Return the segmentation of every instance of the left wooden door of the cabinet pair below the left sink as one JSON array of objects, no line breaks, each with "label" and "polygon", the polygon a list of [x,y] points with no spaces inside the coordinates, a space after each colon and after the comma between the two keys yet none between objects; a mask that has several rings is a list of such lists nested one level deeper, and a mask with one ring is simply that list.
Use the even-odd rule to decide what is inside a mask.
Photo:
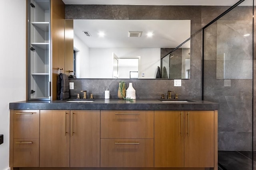
[{"label": "left wooden door of the cabinet pair below the left sink", "polygon": [[40,110],[40,167],[69,167],[69,129],[69,110]]}]

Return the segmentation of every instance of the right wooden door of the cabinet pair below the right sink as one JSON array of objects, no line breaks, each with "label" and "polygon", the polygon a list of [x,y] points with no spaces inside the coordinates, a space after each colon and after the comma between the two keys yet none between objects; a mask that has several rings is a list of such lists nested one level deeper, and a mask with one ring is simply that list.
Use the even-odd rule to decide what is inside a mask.
[{"label": "right wooden door of the cabinet pair below the right sink", "polygon": [[214,167],[214,111],[186,111],[185,132],[185,167]]}]

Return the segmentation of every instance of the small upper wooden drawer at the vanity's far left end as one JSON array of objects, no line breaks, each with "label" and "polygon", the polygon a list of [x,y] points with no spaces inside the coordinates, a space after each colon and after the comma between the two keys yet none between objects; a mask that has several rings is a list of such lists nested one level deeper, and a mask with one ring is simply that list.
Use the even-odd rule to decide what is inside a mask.
[{"label": "small upper wooden drawer at the vanity's far left end", "polygon": [[14,138],[39,138],[39,125],[39,110],[14,110]]}]

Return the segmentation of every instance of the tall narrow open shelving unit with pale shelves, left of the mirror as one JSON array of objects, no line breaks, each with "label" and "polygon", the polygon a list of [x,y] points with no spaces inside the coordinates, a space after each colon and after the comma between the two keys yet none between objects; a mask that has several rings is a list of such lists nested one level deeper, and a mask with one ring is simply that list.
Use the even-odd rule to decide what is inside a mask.
[{"label": "tall narrow open shelving unit with pale shelves, left of the mirror", "polygon": [[50,0],[28,0],[28,100],[50,100]]}]

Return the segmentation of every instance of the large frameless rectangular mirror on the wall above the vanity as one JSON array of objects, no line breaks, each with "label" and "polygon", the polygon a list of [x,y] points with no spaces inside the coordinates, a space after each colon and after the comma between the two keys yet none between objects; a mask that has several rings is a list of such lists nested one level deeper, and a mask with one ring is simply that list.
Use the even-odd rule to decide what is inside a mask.
[{"label": "large frameless rectangular mirror on the wall above the vanity", "polygon": [[190,20],[74,20],[76,77],[154,79],[189,37]]}]

